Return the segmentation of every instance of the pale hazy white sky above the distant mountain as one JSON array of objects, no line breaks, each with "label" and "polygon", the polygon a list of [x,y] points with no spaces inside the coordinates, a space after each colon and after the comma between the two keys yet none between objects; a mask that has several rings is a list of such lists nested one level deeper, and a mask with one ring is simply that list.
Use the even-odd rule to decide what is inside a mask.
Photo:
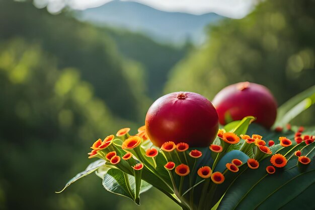
[{"label": "pale hazy white sky above the distant mountain", "polygon": [[[112,0],[34,0],[35,5],[47,6],[50,12],[57,12],[65,4],[73,9],[84,10],[99,7]],[[128,1],[128,0],[124,0]],[[257,0],[256,0],[257,1]],[[247,15],[255,0],[133,0],[155,9],[169,12],[186,12],[204,14],[215,12],[231,18],[242,18]]]}]

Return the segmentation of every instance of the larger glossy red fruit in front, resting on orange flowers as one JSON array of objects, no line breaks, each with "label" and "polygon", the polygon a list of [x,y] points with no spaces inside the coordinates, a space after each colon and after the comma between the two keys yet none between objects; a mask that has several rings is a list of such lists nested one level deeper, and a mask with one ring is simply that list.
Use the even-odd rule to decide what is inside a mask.
[{"label": "larger glossy red fruit in front, resting on orange flowers", "polygon": [[146,132],[157,147],[169,141],[208,147],[216,137],[218,126],[218,114],[211,102],[192,92],[162,96],[145,117]]}]

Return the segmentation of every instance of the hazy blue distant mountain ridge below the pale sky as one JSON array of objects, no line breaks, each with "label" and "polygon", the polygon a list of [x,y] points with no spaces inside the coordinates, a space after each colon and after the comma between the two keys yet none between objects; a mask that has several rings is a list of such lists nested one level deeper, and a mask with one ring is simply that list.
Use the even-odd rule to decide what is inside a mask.
[{"label": "hazy blue distant mountain ridge below the pale sky", "polygon": [[82,11],[77,18],[142,32],[157,41],[183,43],[191,40],[200,43],[205,38],[204,27],[223,17],[215,13],[192,15],[163,12],[139,3],[115,0],[102,7]]}]

